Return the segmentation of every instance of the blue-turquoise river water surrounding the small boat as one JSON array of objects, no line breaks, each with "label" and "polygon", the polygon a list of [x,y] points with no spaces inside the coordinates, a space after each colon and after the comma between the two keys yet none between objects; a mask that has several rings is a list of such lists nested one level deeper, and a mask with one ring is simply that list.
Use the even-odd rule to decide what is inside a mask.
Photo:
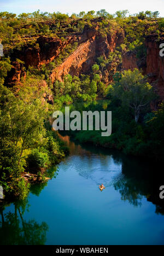
[{"label": "blue-turquoise river water surrounding the small boat", "polygon": [[56,177],[1,211],[1,244],[163,245],[162,184],[147,162],[63,139],[71,154]]}]

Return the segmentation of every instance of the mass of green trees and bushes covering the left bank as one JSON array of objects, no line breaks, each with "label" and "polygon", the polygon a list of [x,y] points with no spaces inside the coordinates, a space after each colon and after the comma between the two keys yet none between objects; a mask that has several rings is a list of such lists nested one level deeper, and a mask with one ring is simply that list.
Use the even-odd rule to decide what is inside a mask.
[{"label": "mass of green trees and bushes covering the left bank", "polygon": [[5,86],[0,88],[1,184],[6,193],[22,198],[29,188],[22,177],[25,171],[36,174],[31,182],[44,181],[44,169],[65,156],[63,144],[46,125],[49,106],[42,95],[43,90],[30,86],[16,96]]}]

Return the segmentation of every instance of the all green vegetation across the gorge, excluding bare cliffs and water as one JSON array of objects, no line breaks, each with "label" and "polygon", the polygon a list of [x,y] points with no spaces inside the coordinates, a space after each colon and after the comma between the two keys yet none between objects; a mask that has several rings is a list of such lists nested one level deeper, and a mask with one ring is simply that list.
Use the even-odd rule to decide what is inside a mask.
[{"label": "all green vegetation across the gorge, excluding bare cliffs and water", "polygon": [[[135,51],[138,59],[144,58],[144,36],[155,34],[160,39],[164,20],[157,18],[157,11],[127,14],[127,10],[117,11],[114,15],[106,10],[97,13],[81,11],[71,17],[61,13],[40,13],[39,10],[18,16],[0,13],[0,38],[4,49],[0,59],[0,185],[3,185],[5,196],[24,198],[29,182],[45,181],[47,173],[44,171],[48,166],[56,164],[68,153],[49,125],[52,112],[66,104],[80,102],[80,107],[75,104],[76,110],[113,112],[110,137],[102,138],[101,131],[74,133],[80,142],[163,159],[164,105],[162,103],[159,110],[152,112],[150,102],[156,95],[147,77],[137,69],[121,72],[121,63],[126,51]],[[82,33],[85,26],[98,26],[102,37],[112,33],[113,28],[125,31],[124,44],[107,57],[97,57],[88,74],[79,77],[68,74],[62,82],[51,82],[52,70],[77,49],[77,42],[68,44],[53,61],[39,68],[27,67],[23,61],[12,59],[15,50],[27,46],[37,49],[39,36],[64,41],[68,35]],[[12,61],[19,63],[21,70],[26,72],[26,79],[21,78],[9,88],[6,78],[13,67]],[[107,69],[112,77],[110,83],[103,77]],[[49,94],[54,97],[53,105],[44,96]],[[30,177],[28,182],[25,177]]]}]

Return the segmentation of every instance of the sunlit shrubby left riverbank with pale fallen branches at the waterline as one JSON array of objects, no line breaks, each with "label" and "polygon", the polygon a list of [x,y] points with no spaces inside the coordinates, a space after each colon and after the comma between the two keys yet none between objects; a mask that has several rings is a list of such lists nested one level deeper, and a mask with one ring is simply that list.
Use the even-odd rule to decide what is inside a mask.
[{"label": "sunlit shrubby left riverbank with pale fallen branches at the waterline", "polygon": [[59,164],[69,154],[68,147],[58,138],[56,132],[51,131],[51,126],[48,125],[46,129],[48,147],[42,150],[43,153],[37,149],[28,154],[25,152],[23,157],[26,159],[26,165],[22,168],[23,171],[19,173],[19,176],[2,178],[4,198],[0,199],[0,205],[17,199],[25,199],[31,185],[47,183],[55,173],[55,170],[50,173],[49,168]]}]

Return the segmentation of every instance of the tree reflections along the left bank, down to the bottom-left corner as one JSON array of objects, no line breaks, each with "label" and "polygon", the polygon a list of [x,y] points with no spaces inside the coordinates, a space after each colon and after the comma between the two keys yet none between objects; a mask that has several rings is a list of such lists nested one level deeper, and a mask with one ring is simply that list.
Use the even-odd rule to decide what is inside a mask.
[{"label": "tree reflections along the left bank, down to the bottom-left corner", "polygon": [[[56,167],[46,171],[46,177],[52,178],[57,174]],[[30,191],[39,196],[48,182],[34,184]],[[28,197],[25,200],[14,202],[14,213],[4,214],[5,206],[0,208],[0,245],[44,245],[48,225],[45,222],[38,224],[34,219],[24,220],[25,210],[28,211]]]}]

